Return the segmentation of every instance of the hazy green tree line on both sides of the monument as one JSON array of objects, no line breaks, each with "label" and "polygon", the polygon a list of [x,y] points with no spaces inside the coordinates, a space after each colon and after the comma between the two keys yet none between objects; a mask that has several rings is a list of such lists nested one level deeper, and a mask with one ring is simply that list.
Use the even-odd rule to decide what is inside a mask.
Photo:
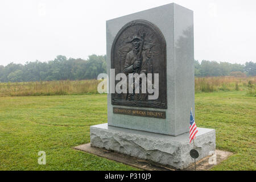
[{"label": "hazy green tree line on both sides of the monument", "polygon": [[[51,80],[97,79],[98,74],[106,73],[106,55],[90,55],[88,59],[73,59],[57,56],[48,62],[10,63],[0,65],[0,82],[27,82]],[[256,63],[252,61],[232,64],[217,61],[195,60],[195,76],[256,76]]]}]

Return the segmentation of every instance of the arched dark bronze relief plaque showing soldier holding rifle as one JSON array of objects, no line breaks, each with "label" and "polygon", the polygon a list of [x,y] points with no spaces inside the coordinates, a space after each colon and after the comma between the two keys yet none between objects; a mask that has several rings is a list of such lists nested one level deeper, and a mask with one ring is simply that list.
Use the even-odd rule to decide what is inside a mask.
[{"label": "arched dark bronze relief plaque showing soldier holding rifle", "polygon": [[[115,36],[111,51],[111,68],[115,75],[125,73],[154,73],[159,75],[159,97],[148,100],[149,93],[112,93],[112,105],[167,108],[166,41],[162,32],[146,20],[125,24]],[[128,80],[128,78],[127,78]],[[115,85],[119,81],[115,81]],[[127,88],[130,83],[127,82]]]}]

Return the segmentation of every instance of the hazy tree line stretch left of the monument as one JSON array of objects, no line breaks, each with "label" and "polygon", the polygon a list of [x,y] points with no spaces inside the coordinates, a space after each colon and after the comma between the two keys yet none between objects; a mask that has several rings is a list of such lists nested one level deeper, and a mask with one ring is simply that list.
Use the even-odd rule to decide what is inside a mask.
[{"label": "hazy tree line stretch left of the monument", "polygon": [[106,73],[106,56],[90,55],[87,60],[57,56],[48,62],[10,63],[0,66],[0,82],[86,80]]}]

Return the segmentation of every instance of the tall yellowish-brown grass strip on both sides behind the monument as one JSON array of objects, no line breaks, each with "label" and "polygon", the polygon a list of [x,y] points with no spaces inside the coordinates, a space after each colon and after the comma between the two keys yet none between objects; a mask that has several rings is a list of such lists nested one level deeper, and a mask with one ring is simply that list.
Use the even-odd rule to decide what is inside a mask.
[{"label": "tall yellowish-brown grass strip on both sides behind the monument", "polygon": [[[52,96],[98,93],[98,80],[35,81],[0,83],[1,96]],[[195,78],[195,92],[243,90],[256,96],[256,77],[203,77]]]}]

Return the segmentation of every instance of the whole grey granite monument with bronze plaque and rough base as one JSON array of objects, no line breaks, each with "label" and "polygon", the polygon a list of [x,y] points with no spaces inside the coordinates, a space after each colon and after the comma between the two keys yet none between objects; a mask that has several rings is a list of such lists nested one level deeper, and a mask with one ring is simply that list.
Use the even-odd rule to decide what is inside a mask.
[{"label": "whole grey granite monument with bronze plaque and rough base", "polygon": [[[188,167],[189,114],[195,110],[193,11],[171,3],[108,20],[106,43],[109,78],[110,69],[115,75],[157,74],[158,85],[154,77],[151,84],[159,97],[148,99],[152,93],[142,93],[141,84],[139,93],[109,93],[108,123],[90,127],[91,146]],[[129,84],[126,89],[134,91]],[[215,130],[198,129],[195,147],[203,159],[215,150]]]}]

